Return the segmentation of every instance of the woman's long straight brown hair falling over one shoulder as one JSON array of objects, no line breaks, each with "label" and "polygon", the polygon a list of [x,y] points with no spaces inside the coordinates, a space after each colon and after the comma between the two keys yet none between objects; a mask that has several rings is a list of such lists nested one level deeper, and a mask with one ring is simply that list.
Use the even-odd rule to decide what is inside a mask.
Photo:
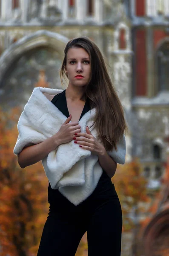
[{"label": "woman's long straight brown hair falling over one shoulder", "polygon": [[83,48],[90,56],[91,78],[86,85],[85,96],[89,97],[91,106],[96,108],[93,125],[106,150],[111,151],[113,148],[117,150],[117,143],[122,139],[127,125],[123,106],[109,77],[103,55],[89,38],[80,37],[70,40],[66,44],[60,70],[62,83],[63,78],[67,76],[65,71],[67,52],[72,47]]}]

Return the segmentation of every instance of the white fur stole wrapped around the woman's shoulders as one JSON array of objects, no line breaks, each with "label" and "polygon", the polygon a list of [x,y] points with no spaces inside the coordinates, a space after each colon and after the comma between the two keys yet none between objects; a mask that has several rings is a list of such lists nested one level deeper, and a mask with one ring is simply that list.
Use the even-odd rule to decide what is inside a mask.
[{"label": "white fur stole wrapped around the woman's shoulders", "polygon": [[[19,118],[19,132],[14,154],[20,153],[26,145],[41,143],[59,131],[67,119],[43,93],[56,95],[63,90],[36,87]],[[95,108],[80,119],[81,129],[92,124]],[[97,136],[96,131],[92,131]],[[124,164],[126,155],[125,136],[117,144],[117,151],[108,154],[115,162]],[[74,141],[61,144],[42,159],[43,168],[52,189],[59,189],[72,204],[78,205],[92,194],[102,175],[97,155],[80,148]]]}]

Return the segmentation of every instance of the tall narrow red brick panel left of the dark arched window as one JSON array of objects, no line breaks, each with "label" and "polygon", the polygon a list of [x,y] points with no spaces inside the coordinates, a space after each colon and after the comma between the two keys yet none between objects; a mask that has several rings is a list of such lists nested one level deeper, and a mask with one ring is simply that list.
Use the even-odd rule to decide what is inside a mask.
[{"label": "tall narrow red brick panel left of the dark arched window", "polygon": [[147,67],[146,67],[146,31],[143,29],[136,31],[135,49],[135,76],[136,76],[136,96],[146,96],[147,92]]}]

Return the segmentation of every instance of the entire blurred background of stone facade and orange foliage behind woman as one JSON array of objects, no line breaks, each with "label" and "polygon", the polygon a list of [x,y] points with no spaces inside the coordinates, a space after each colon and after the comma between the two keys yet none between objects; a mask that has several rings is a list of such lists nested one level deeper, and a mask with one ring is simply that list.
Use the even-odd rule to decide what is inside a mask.
[{"label": "entire blurred background of stone facade and orange foliage behind woman", "polygon": [[48,180],[41,163],[18,165],[17,121],[34,87],[65,89],[63,50],[79,36],[102,51],[129,127],[112,178],[122,256],[169,256],[169,0],[0,0],[0,255],[37,255]]}]

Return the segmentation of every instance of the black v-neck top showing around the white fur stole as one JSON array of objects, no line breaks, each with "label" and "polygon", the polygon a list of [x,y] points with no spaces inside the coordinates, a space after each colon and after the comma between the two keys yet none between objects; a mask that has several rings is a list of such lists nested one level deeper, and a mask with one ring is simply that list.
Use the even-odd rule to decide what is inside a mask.
[{"label": "black v-neck top showing around the white fur stole", "polygon": [[[66,116],[66,117],[69,117],[69,111],[68,111],[68,108],[67,108],[67,102],[66,102],[66,96],[65,96],[65,91],[66,90],[63,90],[63,92],[61,93],[58,93],[57,95],[54,96],[54,98],[52,99],[52,103]],[[83,108],[83,111],[81,113],[81,116],[80,116],[80,119],[82,118],[82,116],[88,112],[90,110],[90,100],[89,98],[86,99],[86,102],[85,102],[85,105],[84,105],[84,108]],[[79,119],[79,121],[80,121]],[[106,174],[106,172],[103,170],[103,174],[102,176],[100,177],[100,180],[97,184],[97,191],[101,188],[101,190],[105,190],[105,187],[106,189],[108,189],[110,183],[112,184],[111,182],[111,178]],[[110,186],[111,189],[112,189],[112,186]],[[95,189],[96,190],[96,189]],[[111,194],[113,195],[117,195],[116,192],[115,192],[115,189],[113,190],[113,192],[111,192]],[[48,201],[49,203],[51,201],[55,201],[54,199],[57,198],[58,200],[58,197],[61,199],[62,198],[62,195],[60,194],[60,192],[58,191],[58,189],[52,189],[51,186],[50,186],[50,183],[49,183],[49,187],[48,187]]]}]

